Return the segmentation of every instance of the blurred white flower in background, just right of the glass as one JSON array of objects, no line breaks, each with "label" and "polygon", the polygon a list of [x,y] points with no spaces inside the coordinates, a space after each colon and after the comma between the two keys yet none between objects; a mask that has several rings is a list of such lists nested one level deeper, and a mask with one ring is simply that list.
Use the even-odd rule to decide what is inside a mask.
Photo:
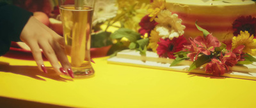
[{"label": "blurred white flower in background, just right of the glass", "polygon": [[117,10],[116,0],[96,0],[92,25],[94,26],[116,17]]}]

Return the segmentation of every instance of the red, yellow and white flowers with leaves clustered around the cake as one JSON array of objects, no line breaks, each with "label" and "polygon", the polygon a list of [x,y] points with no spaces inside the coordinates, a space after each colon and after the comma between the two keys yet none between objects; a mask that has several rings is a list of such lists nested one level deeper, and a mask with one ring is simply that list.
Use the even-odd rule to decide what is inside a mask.
[{"label": "red, yellow and white flowers with leaves clustered around the cake", "polygon": [[[141,18],[138,32],[129,29],[118,29],[111,34],[112,39],[128,39],[127,48],[140,51],[154,51],[159,57],[175,59],[170,66],[184,60],[191,60],[188,71],[204,66],[205,72],[221,76],[230,71],[234,65],[252,64],[256,62],[256,18],[239,17],[232,24],[234,37],[223,42],[212,36],[210,32],[195,25],[204,36],[189,38],[183,36],[182,19],[167,10],[164,0],[154,0],[148,8],[148,15]],[[122,42],[122,41],[120,41]],[[127,44],[117,43],[113,46]],[[120,47],[118,47],[120,48]],[[123,48],[124,49],[124,48]],[[122,50],[122,48],[117,51]]]}]

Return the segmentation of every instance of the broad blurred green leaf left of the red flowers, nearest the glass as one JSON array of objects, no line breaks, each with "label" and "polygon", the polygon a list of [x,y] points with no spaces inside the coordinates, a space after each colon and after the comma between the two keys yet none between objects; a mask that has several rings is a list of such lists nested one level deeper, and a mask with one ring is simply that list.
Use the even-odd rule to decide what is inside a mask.
[{"label": "broad blurred green leaf left of the red flowers, nearest the glass", "polygon": [[120,28],[116,30],[113,34],[111,34],[111,39],[121,39],[122,37],[126,37],[131,42],[135,42],[140,39],[140,34],[138,32],[134,32],[131,29]]}]

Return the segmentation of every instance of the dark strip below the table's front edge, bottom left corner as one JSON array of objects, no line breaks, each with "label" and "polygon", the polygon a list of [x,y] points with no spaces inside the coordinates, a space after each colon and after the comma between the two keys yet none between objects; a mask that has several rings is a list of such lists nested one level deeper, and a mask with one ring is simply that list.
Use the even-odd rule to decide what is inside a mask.
[{"label": "dark strip below the table's front edge, bottom left corner", "polygon": [[0,97],[0,107],[9,108],[9,107],[51,107],[51,108],[70,108],[61,105],[52,105],[52,104],[43,104],[40,102],[31,102],[27,100],[19,100],[15,98]]}]

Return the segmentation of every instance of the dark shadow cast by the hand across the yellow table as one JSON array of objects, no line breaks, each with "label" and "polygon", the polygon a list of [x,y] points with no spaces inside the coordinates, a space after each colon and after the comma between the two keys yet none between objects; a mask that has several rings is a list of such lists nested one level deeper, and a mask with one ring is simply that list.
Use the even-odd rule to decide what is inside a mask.
[{"label": "dark shadow cast by the hand across the yellow table", "polygon": [[[13,74],[20,74],[22,76],[28,76],[30,78],[46,81],[44,78],[54,79],[56,81],[73,81],[73,79],[66,79],[61,78],[56,72],[51,69],[47,68],[48,73],[45,74],[44,72],[39,71],[38,67],[36,66],[22,66],[22,65],[9,65],[8,63],[1,62],[0,64],[0,71],[1,72],[11,72]],[[44,78],[42,78],[42,77]]]}]

